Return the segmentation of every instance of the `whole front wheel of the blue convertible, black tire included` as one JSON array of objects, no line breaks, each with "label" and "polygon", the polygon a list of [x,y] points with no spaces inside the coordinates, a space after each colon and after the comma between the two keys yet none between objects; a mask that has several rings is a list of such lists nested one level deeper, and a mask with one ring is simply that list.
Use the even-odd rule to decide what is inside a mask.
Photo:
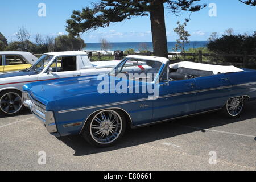
[{"label": "whole front wheel of the blue convertible, black tire included", "polygon": [[[111,114],[108,114],[108,113],[111,113]],[[99,115],[101,115],[101,119],[98,118]],[[112,115],[112,116],[110,116],[110,119],[104,120],[104,117],[102,115],[105,115],[105,118],[109,117],[109,115]],[[97,120],[96,120],[96,117],[97,117]],[[110,127],[110,126],[114,126],[114,125],[110,125],[110,123],[114,121],[114,119],[111,119],[113,117],[116,117],[114,123],[116,123],[116,126],[118,125],[118,127],[115,127],[115,128]],[[99,122],[98,120],[100,120],[101,122]],[[107,120],[109,121],[109,123],[106,122]],[[95,125],[97,123],[99,126]],[[111,133],[113,131],[112,129],[116,131],[114,134],[115,135],[118,134],[117,136],[115,136],[114,134],[109,135],[109,134],[112,134]],[[89,119],[85,123],[84,129],[82,130],[81,134],[82,134],[82,137],[84,137],[84,139],[88,143],[92,144],[95,147],[103,148],[103,147],[113,146],[113,144],[117,143],[123,137],[125,130],[126,130],[126,120],[125,120],[125,115],[123,115],[122,111],[114,110],[114,109],[105,109],[105,110],[98,111],[97,113],[89,117]],[[95,132],[93,133],[93,131]],[[97,139],[96,137],[97,134],[95,133],[98,133],[98,135],[100,134],[102,135],[104,134],[104,132],[107,132],[106,135],[109,135],[109,138],[106,138],[105,139],[106,141],[102,138],[102,141],[100,142],[99,141],[100,137]],[[103,137],[105,137],[105,134]],[[113,139],[110,140],[110,138],[113,138]],[[108,141],[108,139],[110,141]]]}]

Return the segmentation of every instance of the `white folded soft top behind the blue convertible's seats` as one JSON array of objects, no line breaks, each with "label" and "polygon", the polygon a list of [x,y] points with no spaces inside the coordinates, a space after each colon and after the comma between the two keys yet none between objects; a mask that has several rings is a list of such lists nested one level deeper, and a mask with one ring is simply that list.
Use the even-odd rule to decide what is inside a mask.
[{"label": "white folded soft top behind the blue convertible's seats", "polygon": [[214,75],[217,75],[218,73],[243,72],[242,69],[234,66],[221,66],[221,65],[203,64],[203,63],[193,63],[189,61],[170,64],[170,68],[172,69],[189,68],[189,69],[197,69],[202,71],[212,71]]}]

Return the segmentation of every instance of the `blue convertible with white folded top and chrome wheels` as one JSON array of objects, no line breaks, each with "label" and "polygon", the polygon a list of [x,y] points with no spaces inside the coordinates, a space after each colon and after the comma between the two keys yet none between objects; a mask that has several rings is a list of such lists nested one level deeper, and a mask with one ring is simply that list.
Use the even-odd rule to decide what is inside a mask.
[{"label": "blue convertible with white folded top and chrome wheels", "polygon": [[24,105],[49,133],[82,134],[107,147],[126,127],[217,110],[238,117],[256,99],[256,71],[131,55],[107,75],[35,82],[23,90]]}]

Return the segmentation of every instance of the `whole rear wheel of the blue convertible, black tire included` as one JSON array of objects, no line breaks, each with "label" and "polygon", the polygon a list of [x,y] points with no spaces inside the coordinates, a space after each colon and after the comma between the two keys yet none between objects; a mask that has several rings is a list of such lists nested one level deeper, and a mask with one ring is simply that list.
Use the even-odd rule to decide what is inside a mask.
[{"label": "whole rear wheel of the blue convertible, black tire included", "polygon": [[222,108],[222,113],[227,118],[238,118],[243,113],[245,107],[245,97],[238,96],[229,98],[225,106]]}]

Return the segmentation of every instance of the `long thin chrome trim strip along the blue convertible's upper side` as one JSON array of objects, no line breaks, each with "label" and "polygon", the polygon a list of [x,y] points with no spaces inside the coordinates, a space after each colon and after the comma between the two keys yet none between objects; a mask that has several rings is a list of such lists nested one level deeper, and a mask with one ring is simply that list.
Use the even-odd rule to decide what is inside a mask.
[{"label": "long thin chrome trim strip along the blue convertible's upper side", "polygon": [[[233,88],[233,87],[237,87],[237,86],[246,86],[246,85],[254,85],[254,84],[256,84],[256,82],[250,82],[250,83],[247,83],[247,84],[230,85],[230,86],[220,86],[220,87],[211,88],[211,89],[195,90],[195,91],[191,91],[191,92],[182,92],[182,93],[170,94],[170,95],[166,95],[166,96],[159,96],[158,98],[182,96],[182,95],[185,95],[185,94],[208,92],[208,91],[212,91],[212,90],[221,90],[221,89]],[[129,103],[133,103],[133,102],[140,102],[140,101],[147,101],[147,100],[148,100],[148,98],[142,98],[142,99],[139,99],[139,100],[131,100],[131,101],[116,102],[116,103],[105,104],[105,105],[81,107],[81,108],[78,108],[78,109],[62,110],[62,111],[59,111],[59,113],[69,113],[69,112],[72,112],[72,111],[95,109],[95,108],[98,108],[98,107],[108,107],[108,106],[129,104]]]}]

